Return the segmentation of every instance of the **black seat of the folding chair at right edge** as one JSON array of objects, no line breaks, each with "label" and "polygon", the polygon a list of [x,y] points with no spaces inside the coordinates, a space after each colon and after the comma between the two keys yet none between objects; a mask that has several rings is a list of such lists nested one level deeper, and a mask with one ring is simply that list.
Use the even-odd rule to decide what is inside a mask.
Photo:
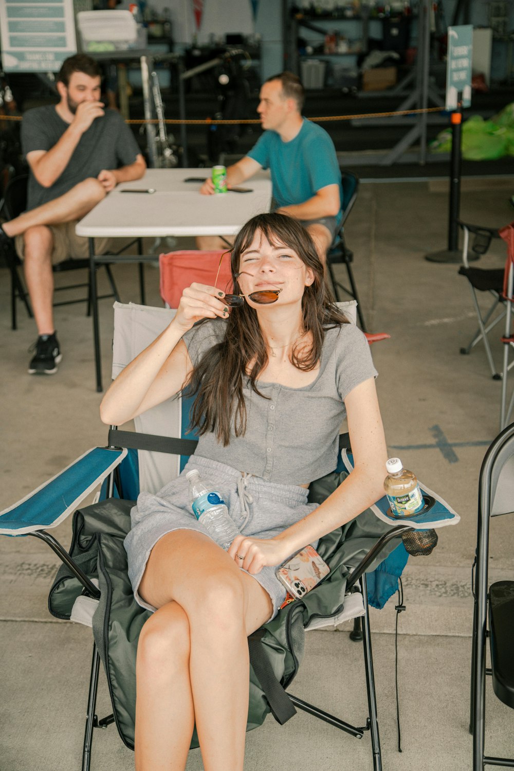
[{"label": "black seat of the folding chair at right edge", "polygon": [[514,581],[489,587],[489,631],[492,688],[514,709]]}]

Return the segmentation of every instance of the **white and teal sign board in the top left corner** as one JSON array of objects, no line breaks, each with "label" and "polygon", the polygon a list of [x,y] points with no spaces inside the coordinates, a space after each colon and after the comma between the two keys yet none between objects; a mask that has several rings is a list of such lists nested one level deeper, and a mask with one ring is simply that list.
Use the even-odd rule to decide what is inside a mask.
[{"label": "white and teal sign board in the top left corner", "polygon": [[77,52],[73,0],[0,0],[5,72],[57,72]]}]

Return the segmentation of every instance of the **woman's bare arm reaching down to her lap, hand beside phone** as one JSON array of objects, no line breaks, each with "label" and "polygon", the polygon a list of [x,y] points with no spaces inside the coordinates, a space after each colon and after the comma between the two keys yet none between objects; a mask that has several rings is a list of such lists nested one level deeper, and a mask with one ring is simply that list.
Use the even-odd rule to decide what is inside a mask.
[{"label": "woman's bare arm reaching down to her lap, hand beside phone", "polygon": [[[264,565],[281,564],[290,554],[358,517],[384,494],[388,456],[375,380],[357,385],[344,404],[354,470],[317,509],[274,538],[237,536],[230,546],[230,557],[236,559],[236,553],[247,555],[242,567],[250,573],[258,573]],[[240,561],[237,563],[240,565]]]}]

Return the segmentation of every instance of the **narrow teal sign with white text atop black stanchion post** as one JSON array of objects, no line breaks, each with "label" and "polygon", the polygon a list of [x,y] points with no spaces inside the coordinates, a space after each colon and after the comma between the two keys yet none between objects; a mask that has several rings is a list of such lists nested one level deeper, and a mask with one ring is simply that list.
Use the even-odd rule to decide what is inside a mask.
[{"label": "narrow teal sign with white text atop black stanchion post", "polygon": [[459,94],[463,107],[471,106],[471,63],[473,27],[464,24],[448,27],[448,58],[446,60],[445,109],[457,109]]}]

